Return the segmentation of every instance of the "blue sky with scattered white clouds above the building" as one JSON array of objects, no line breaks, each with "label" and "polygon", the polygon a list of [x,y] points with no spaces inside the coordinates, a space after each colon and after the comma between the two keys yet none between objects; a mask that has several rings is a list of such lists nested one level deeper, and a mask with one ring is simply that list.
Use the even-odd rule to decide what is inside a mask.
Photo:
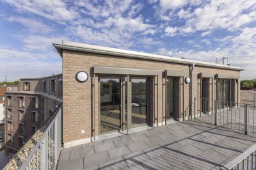
[{"label": "blue sky with scattered white clouds above the building", "polygon": [[0,0],[0,82],[61,72],[62,40],[214,63],[256,78],[256,1]]}]

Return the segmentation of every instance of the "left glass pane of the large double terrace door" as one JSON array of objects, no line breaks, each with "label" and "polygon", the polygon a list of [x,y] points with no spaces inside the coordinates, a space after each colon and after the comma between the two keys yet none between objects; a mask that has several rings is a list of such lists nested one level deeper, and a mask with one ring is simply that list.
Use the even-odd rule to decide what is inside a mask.
[{"label": "left glass pane of the large double terrace door", "polygon": [[120,129],[120,79],[100,79],[100,132]]}]

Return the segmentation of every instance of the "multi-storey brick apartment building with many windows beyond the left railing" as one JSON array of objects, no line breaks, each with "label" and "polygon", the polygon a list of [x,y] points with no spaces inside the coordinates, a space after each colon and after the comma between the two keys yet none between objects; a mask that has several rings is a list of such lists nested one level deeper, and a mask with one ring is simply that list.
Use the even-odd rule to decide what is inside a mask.
[{"label": "multi-storey brick apartment building with many windows beyond the left railing", "polygon": [[5,92],[6,155],[16,153],[62,102],[62,74],[22,78]]}]

